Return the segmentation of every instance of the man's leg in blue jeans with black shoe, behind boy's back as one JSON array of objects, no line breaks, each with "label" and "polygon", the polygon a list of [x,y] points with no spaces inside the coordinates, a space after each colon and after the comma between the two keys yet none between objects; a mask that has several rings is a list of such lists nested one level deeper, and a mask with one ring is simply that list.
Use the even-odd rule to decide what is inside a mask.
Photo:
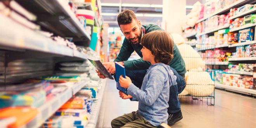
[{"label": "man's leg in blue jeans with black shoe, behind boy's back", "polygon": [[176,122],[180,121],[183,116],[180,111],[180,101],[178,99],[178,94],[183,91],[185,88],[185,79],[180,76],[175,69],[171,67],[173,74],[177,77],[176,82],[177,85],[170,87],[170,96],[169,96],[169,107],[168,107],[168,125],[174,125]]}]

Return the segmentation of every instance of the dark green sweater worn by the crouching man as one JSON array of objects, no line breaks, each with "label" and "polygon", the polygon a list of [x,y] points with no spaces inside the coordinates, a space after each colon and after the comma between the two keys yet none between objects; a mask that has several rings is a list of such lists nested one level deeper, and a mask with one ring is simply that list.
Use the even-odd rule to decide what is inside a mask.
[{"label": "dark green sweater worn by the crouching man", "polygon": [[[149,33],[150,31],[155,31],[155,30],[162,30],[159,26],[154,25],[154,24],[149,24],[146,26],[142,26],[145,28],[145,33]],[[124,66],[126,70],[145,70],[148,69],[150,66],[150,63],[147,61],[143,61],[142,58],[137,59],[137,60],[132,60],[132,61],[127,61],[128,58],[131,56],[131,54],[134,52],[137,52],[137,54],[140,57],[142,56],[142,52],[140,50],[142,49],[142,45],[137,44],[134,45],[130,43],[126,38],[123,42],[123,45],[121,47],[120,53],[114,60],[114,62],[124,62]],[[178,50],[176,44],[173,44],[173,59],[171,60],[171,63],[169,64],[170,67],[174,68],[181,76],[183,76],[186,73],[186,68],[185,68],[185,62],[182,59],[182,56],[180,55],[180,51]]]}]

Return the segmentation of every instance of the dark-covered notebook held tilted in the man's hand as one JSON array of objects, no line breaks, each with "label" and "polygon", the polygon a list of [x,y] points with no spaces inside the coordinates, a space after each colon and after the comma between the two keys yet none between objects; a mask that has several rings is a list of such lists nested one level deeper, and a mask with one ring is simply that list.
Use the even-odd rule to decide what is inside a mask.
[{"label": "dark-covered notebook held tilted in the man's hand", "polygon": [[106,67],[102,64],[102,62],[100,62],[99,59],[94,59],[94,58],[87,58],[94,67],[96,67],[96,69],[99,70],[100,74],[102,74],[103,76],[114,80],[114,78],[111,76],[111,74],[107,71]]}]

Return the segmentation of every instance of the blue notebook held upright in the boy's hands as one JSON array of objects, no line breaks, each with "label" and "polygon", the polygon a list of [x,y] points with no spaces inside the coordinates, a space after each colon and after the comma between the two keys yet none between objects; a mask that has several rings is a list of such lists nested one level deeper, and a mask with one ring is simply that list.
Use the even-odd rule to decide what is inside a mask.
[{"label": "blue notebook held upright in the boy's hands", "polygon": [[116,88],[120,90],[121,92],[127,94],[127,89],[120,86],[119,77],[122,75],[125,78],[125,67],[115,62],[116,67]]}]

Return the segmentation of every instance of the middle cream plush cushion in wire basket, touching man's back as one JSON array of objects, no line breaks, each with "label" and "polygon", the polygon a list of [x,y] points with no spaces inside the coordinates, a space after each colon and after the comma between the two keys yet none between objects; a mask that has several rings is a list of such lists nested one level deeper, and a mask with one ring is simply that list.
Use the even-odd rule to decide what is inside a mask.
[{"label": "middle cream plush cushion in wire basket, touching man's back", "polygon": [[185,66],[187,70],[205,67],[205,62],[202,60],[201,56],[188,44],[180,44],[177,46],[180,50],[180,54],[185,61]]}]

